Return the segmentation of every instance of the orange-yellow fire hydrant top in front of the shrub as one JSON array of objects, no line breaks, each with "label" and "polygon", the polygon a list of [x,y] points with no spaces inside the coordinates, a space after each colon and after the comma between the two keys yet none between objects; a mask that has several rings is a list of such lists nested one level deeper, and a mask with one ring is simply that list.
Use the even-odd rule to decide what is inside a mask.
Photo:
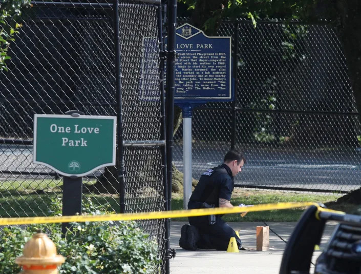
[{"label": "orange-yellow fire hydrant top in front of the shrub", "polygon": [[19,274],[57,274],[63,262],[64,257],[56,254],[55,244],[41,230],[25,244],[23,256],[15,259],[23,267]]}]

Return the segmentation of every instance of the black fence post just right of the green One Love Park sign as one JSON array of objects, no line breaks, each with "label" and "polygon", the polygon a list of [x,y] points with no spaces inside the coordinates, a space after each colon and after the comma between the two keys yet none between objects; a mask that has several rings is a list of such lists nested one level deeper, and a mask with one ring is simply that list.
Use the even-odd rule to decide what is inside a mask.
[{"label": "black fence post just right of the green One Love Park sign", "polygon": [[124,148],[123,148],[123,119],[121,99],[121,68],[120,68],[120,37],[119,37],[119,0],[114,0],[114,51],[115,51],[115,88],[117,112],[117,171],[119,182],[120,213],[125,212],[125,183],[124,183]]}]

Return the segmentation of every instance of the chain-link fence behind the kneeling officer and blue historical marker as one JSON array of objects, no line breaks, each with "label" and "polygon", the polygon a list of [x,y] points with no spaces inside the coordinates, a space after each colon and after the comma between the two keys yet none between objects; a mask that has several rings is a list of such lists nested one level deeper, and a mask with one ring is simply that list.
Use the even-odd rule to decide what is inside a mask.
[{"label": "chain-link fence behind the kneeling officer and blue historical marker", "polygon": [[[178,21],[178,26],[192,22]],[[238,186],[307,191],[360,187],[360,121],[342,45],[331,26],[223,22],[232,37],[235,103],[194,111],[193,178],[231,147],[245,152]],[[182,126],[174,160],[182,170]]]}]

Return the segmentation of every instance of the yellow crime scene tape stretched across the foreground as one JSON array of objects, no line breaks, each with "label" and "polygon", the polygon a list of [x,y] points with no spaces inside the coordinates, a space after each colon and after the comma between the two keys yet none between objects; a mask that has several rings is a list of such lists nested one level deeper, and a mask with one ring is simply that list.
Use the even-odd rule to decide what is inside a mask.
[{"label": "yellow crime scene tape stretched across the foreground", "polygon": [[[190,210],[173,210],[173,211],[156,211],[141,213],[122,213],[122,214],[105,214],[105,215],[76,215],[76,216],[56,216],[56,217],[23,217],[23,218],[0,218],[0,225],[24,225],[24,224],[50,224],[50,223],[71,223],[71,222],[100,222],[100,221],[131,221],[131,220],[148,220],[148,219],[165,219],[179,217],[196,217],[210,214],[229,214],[242,212],[256,212],[265,210],[279,210],[316,206],[317,212],[326,211],[338,214],[346,214],[342,211],[322,208],[320,205],[312,202],[292,202],[292,203],[274,203],[261,204],[248,207],[219,207]],[[318,215],[318,214],[317,214]]]}]

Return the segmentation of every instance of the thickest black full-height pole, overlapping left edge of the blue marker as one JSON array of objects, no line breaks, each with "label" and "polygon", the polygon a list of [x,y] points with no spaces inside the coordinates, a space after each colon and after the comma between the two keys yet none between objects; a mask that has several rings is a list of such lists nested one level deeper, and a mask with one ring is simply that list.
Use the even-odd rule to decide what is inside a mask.
[{"label": "thickest black full-height pole, overlapping left edge of the blue marker", "polygon": [[[173,118],[174,118],[174,93],[175,93],[175,67],[176,67],[176,27],[177,27],[177,0],[168,0],[168,39],[167,39],[167,71],[166,71],[166,155],[167,155],[167,206],[172,209],[172,159],[173,159]],[[168,234],[171,231],[171,222],[168,220]],[[169,246],[169,241],[167,241]],[[169,248],[166,257],[169,258]],[[165,272],[169,274],[169,259],[166,260]]]}]

